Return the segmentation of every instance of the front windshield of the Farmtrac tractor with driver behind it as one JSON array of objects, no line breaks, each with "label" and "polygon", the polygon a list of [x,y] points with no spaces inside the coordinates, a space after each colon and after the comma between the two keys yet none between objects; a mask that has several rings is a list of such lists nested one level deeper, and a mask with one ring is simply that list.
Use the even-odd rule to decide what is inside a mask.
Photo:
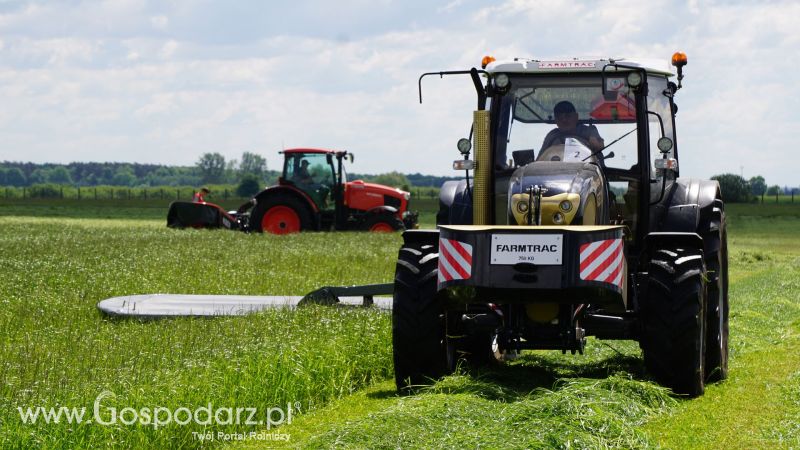
[{"label": "front windshield of the Farmtrac tractor with driver behind it", "polygon": [[[573,139],[596,152],[614,151],[607,167],[630,169],[637,161],[636,106],[624,76],[523,77],[511,79],[511,89],[500,99],[495,142],[507,164],[512,152],[533,150],[536,160],[564,160]],[[505,150],[505,151],[503,151]],[[567,155],[569,157],[569,155]]]}]

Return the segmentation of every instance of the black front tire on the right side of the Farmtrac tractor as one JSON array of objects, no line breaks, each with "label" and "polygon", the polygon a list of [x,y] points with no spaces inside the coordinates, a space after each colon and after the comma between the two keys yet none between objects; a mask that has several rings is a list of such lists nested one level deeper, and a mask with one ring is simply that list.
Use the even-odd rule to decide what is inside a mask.
[{"label": "black front tire on the right side of the Farmtrac tractor", "polygon": [[706,269],[696,249],[659,249],[640,302],[647,370],[676,394],[705,391]]}]

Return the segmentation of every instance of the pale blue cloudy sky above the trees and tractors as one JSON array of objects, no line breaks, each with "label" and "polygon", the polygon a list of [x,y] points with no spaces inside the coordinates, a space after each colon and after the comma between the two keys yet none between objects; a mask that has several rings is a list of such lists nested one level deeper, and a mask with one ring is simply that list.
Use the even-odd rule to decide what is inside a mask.
[{"label": "pale blue cloudy sky above the trees and tractors", "polygon": [[289,147],[454,174],[483,55],[687,53],[684,176],[800,185],[800,2],[0,0],[0,160],[192,165]]}]

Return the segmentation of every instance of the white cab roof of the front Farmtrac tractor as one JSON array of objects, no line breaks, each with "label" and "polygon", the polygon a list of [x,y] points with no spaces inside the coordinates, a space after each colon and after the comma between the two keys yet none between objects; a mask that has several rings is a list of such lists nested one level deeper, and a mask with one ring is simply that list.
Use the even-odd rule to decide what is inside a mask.
[{"label": "white cab roof of the front Farmtrac tractor", "polygon": [[[625,58],[608,59],[580,59],[580,58],[561,58],[551,60],[537,60],[527,58],[514,58],[512,60],[490,62],[484,70],[489,73],[577,73],[577,72],[601,72],[603,67],[608,64],[621,64],[645,69],[648,73],[672,76],[674,73],[670,69],[669,62],[663,63],[659,60],[630,60]],[[624,68],[620,68],[625,70]],[[606,73],[608,73],[606,69]]]}]

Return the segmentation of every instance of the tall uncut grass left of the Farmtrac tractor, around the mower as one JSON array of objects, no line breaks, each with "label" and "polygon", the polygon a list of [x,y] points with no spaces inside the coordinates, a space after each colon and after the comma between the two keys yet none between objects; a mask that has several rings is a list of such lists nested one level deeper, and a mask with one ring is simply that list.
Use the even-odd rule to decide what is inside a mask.
[{"label": "tall uncut grass left of the Farmtrac tractor, around the mower", "polygon": [[[17,407],[86,407],[91,414],[98,395],[110,391],[105,421],[106,407],[194,411],[211,404],[263,413],[289,403],[305,413],[390,375],[386,313],[309,307],[141,322],[104,317],[95,304],[139,293],[291,295],[323,282],[386,282],[398,235],[275,237],[9,217],[0,228],[0,447],[197,447],[192,432],[209,429],[30,425]],[[259,428],[213,425],[215,432]]]}]

